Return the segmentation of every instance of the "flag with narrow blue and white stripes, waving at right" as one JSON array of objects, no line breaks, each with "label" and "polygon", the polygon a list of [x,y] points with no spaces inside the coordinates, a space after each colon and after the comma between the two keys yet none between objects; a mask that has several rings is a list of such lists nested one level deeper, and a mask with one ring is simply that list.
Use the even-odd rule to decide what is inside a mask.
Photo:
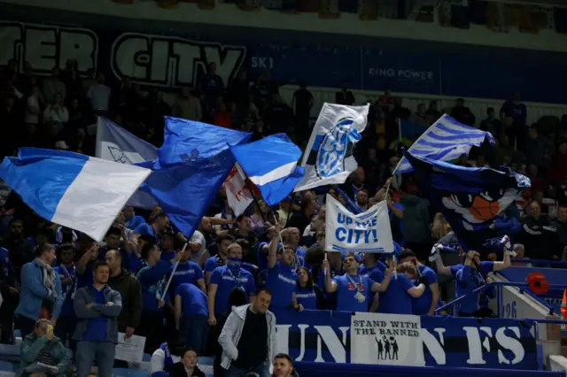
[{"label": "flag with narrow blue and white stripes, waving at right", "polygon": [[[416,140],[408,152],[419,158],[433,161],[450,161],[468,155],[473,146],[485,140],[494,144],[493,135],[459,123],[444,114]],[[409,173],[414,169],[407,158],[401,158],[392,174]]]}]

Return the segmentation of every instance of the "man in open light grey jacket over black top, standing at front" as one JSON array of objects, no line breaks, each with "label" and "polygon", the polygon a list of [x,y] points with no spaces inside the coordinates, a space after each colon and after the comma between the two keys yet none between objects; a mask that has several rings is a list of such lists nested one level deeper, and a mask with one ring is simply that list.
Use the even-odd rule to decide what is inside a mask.
[{"label": "man in open light grey jacket over black top, standing at front", "polygon": [[232,308],[219,336],[221,366],[227,377],[258,373],[269,377],[269,366],[276,356],[276,316],[268,311],[272,294],[260,289],[253,304]]}]

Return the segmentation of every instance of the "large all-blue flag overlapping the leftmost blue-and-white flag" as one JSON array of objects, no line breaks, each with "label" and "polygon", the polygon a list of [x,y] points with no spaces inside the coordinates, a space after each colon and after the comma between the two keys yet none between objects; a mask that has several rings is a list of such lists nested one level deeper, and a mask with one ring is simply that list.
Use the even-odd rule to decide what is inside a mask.
[{"label": "large all-blue flag overlapping the leftmost blue-and-white flag", "polygon": [[153,170],[140,189],[150,193],[175,227],[189,237],[235,165],[229,145],[247,142],[251,136],[167,117],[158,159],[136,164]]}]

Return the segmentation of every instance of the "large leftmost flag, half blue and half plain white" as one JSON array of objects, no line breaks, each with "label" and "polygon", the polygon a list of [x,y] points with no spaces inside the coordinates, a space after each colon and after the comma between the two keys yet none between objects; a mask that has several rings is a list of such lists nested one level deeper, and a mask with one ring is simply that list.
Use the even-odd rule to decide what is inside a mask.
[{"label": "large leftmost flag, half blue and half plain white", "polygon": [[142,167],[78,153],[22,148],[0,177],[43,219],[102,241],[128,198],[150,175]]}]

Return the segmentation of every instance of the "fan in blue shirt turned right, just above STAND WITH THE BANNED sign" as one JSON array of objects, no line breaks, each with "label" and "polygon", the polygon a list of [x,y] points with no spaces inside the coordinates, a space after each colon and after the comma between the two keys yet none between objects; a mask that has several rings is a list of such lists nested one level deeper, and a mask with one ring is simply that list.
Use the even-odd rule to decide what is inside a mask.
[{"label": "fan in blue shirt turned right, just above STAND WITH THE BANNED sign", "polygon": [[396,268],[397,276],[392,278],[388,289],[380,294],[378,312],[389,314],[411,314],[413,298],[419,298],[425,291],[425,285],[414,286],[416,265],[406,262]]}]

